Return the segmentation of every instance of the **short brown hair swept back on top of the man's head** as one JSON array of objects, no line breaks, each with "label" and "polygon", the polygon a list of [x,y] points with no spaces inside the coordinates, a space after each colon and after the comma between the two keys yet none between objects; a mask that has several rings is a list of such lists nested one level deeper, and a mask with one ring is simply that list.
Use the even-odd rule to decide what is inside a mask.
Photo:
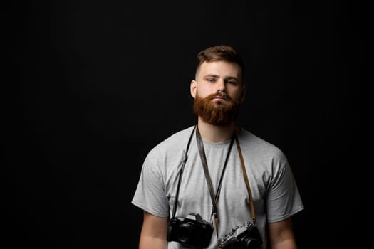
[{"label": "short brown hair swept back on top of the man's head", "polygon": [[241,71],[244,73],[244,60],[239,55],[239,52],[227,45],[219,45],[214,47],[209,47],[197,54],[197,64],[196,71],[199,70],[200,65],[204,61],[211,62],[217,60],[225,60],[233,63],[237,63]]}]

